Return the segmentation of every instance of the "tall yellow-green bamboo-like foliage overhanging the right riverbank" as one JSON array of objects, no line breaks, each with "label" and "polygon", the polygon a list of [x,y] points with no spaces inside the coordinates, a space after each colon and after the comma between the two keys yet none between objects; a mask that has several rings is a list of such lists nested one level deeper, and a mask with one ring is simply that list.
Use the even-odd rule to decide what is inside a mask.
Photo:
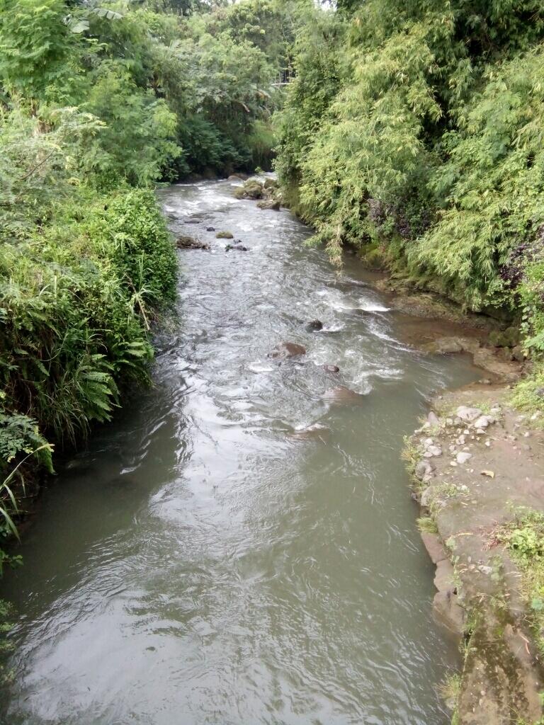
[{"label": "tall yellow-green bamboo-like foliage overhanging the right riverbank", "polygon": [[339,0],[297,32],[289,199],[338,261],[506,310],[544,352],[540,0]]}]

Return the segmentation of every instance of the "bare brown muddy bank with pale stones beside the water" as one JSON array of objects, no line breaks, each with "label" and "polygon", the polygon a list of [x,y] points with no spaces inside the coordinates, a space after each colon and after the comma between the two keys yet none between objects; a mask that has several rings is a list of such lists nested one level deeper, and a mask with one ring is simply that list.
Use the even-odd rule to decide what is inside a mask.
[{"label": "bare brown muddy bank with pale stones beside the water", "polygon": [[497,532],[519,510],[544,511],[544,431],[511,409],[510,394],[477,385],[434,399],[405,449],[437,567],[435,616],[462,636],[461,725],[543,716],[539,636],[523,573]]}]

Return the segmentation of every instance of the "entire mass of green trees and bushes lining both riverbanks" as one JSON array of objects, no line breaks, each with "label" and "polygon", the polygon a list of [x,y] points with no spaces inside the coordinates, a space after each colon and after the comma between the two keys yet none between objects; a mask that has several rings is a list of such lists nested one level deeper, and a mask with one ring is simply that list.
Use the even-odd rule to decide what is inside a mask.
[{"label": "entire mass of green trees and bushes lining both riverbanks", "polygon": [[[540,0],[323,5],[0,0],[10,489],[27,456],[51,470],[50,442],[147,379],[176,278],[153,185],[270,165],[274,113],[284,195],[335,262],[355,244],[398,278],[506,310],[544,353]],[[280,108],[272,83],[292,68]]]}]

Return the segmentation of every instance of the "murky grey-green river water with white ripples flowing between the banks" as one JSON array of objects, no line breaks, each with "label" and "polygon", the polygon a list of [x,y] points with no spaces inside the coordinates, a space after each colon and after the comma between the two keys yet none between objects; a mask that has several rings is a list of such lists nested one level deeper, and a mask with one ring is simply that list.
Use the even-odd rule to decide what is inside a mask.
[{"label": "murky grey-green river water with white ripples flowing between the banks", "polygon": [[[179,252],[153,388],[62,466],[4,576],[3,724],[448,722],[457,646],[400,449],[432,392],[477,373],[405,344],[355,260],[339,275],[289,212],[233,189],[160,191],[212,249]],[[282,340],[308,354],[268,357]]]}]

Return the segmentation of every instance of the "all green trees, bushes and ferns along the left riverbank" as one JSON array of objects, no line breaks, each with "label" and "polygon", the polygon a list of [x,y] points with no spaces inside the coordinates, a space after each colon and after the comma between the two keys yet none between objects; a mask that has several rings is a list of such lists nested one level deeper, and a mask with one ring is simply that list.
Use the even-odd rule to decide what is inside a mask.
[{"label": "all green trees, bushes and ferns along the left riverbank", "polygon": [[287,7],[0,0],[0,536],[28,463],[147,380],[176,284],[154,183],[270,164]]}]

